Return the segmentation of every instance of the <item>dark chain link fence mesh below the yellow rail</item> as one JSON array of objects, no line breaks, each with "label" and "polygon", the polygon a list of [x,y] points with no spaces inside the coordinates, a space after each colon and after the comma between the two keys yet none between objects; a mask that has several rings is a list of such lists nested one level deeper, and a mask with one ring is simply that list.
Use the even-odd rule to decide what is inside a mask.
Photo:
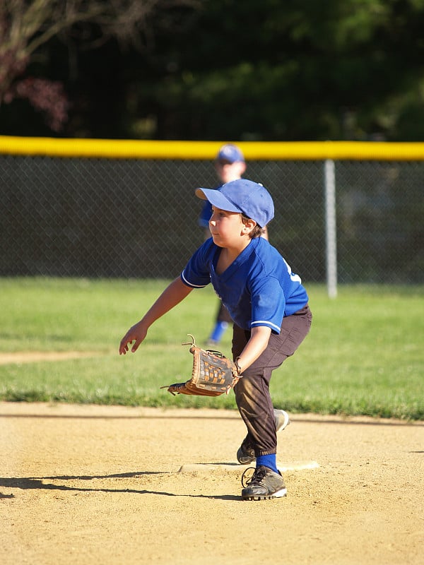
[{"label": "dark chain link fence mesh below the yellow rail", "polygon": [[[269,189],[270,242],[326,280],[324,162],[248,160]],[[0,276],[174,278],[203,242],[211,160],[0,155]],[[424,282],[424,162],[335,162],[339,283]]]}]

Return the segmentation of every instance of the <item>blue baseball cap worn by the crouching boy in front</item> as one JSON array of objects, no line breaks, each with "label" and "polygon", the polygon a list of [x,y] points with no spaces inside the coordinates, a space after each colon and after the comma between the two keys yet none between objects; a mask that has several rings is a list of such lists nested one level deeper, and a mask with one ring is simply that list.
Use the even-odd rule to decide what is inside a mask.
[{"label": "blue baseball cap worn by the crouching boy in front", "polygon": [[196,189],[195,194],[216,208],[247,215],[260,227],[265,227],[274,216],[271,194],[262,184],[247,179],[226,182],[219,189]]}]

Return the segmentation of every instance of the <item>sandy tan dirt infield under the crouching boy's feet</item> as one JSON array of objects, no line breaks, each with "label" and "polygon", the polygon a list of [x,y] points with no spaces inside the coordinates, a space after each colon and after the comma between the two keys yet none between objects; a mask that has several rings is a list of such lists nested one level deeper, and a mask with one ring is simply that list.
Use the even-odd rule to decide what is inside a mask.
[{"label": "sandy tan dirt infield under the crouching boy's feet", "polygon": [[423,563],[423,422],[292,415],[288,496],[260,502],[236,412],[0,403],[0,425],[2,565]]}]

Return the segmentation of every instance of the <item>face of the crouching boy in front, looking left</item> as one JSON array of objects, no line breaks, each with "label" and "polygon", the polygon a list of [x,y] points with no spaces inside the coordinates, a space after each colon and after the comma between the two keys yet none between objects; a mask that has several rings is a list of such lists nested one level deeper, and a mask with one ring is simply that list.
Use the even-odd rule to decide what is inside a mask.
[{"label": "face of the crouching boy in front, looking left", "polygon": [[[253,222],[253,227],[254,225],[255,222]],[[239,212],[228,212],[212,206],[209,230],[214,244],[219,247],[233,248],[240,246],[246,235],[249,237],[252,227],[248,227],[242,221],[242,215]]]}]

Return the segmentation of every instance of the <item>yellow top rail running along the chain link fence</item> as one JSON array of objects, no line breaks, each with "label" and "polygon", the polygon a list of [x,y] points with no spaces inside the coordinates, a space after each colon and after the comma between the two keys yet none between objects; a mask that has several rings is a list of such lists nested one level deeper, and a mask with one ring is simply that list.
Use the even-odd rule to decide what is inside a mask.
[{"label": "yellow top rail running along the chain link fence", "polygon": [[[0,154],[105,159],[213,160],[228,141],[144,141],[0,136]],[[424,143],[235,141],[247,160],[424,160]]]}]

